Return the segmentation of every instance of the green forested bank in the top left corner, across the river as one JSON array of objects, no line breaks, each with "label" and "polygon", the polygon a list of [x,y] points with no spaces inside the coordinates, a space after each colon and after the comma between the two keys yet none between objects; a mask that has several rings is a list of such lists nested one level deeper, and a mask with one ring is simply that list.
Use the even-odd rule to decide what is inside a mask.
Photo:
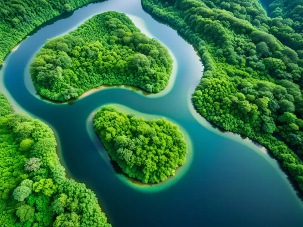
[{"label": "green forested bank in the top left corner, across the river", "polygon": [[0,64],[11,49],[45,21],[98,0],[0,1]]}]

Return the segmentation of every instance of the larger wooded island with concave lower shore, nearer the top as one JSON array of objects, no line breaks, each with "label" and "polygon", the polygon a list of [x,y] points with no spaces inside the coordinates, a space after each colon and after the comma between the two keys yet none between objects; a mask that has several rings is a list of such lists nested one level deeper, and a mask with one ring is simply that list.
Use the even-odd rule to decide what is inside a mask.
[{"label": "larger wooded island with concave lower shore, nearer the top", "polygon": [[168,50],[117,12],[95,15],[68,35],[48,40],[30,68],[36,90],[59,101],[103,84],[157,93],[171,70]]}]

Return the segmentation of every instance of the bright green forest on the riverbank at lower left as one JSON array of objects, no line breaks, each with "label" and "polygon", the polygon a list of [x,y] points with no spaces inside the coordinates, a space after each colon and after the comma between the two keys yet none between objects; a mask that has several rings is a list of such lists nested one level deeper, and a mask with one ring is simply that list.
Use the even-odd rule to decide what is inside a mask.
[{"label": "bright green forest on the riverbank at lower left", "polygon": [[111,226],[95,194],[65,178],[52,130],[0,95],[0,226]]}]

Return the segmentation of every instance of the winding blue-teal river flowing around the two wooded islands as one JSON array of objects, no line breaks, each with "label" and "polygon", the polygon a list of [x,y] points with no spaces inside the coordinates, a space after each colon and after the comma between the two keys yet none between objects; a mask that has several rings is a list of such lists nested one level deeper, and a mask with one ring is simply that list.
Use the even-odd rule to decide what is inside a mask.
[{"label": "winding blue-teal river flowing around the two wooded islands", "polygon": [[[45,40],[109,10],[142,18],[150,33],[172,51],[178,62],[172,90],[150,98],[131,89],[111,88],[72,104],[51,104],[33,95],[25,86],[29,81],[27,65]],[[94,190],[113,226],[301,225],[302,202],[275,160],[250,141],[212,128],[193,110],[190,94],[201,70],[193,47],[146,14],[140,0],[110,0],[58,18],[23,41],[4,62],[2,91],[16,110],[24,110],[55,129],[62,164],[71,176]],[[180,169],[174,183],[142,189],[125,182],[108,164],[102,146],[96,148],[100,143],[91,135],[89,120],[95,109],[107,103],[168,117],[187,132],[192,158],[188,157],[189,164]]]}]

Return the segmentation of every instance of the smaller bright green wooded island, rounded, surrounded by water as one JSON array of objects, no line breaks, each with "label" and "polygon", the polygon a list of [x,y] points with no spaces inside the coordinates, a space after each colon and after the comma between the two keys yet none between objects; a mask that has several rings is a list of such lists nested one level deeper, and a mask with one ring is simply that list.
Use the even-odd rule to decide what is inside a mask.
[{"label": "smaller bright green wooded island, rounded, surrounded by water", "polygon": [[128,176],[143,183],[164,181],[185,162],[184,136],[178,126],[165,118],[145,120],[113,106],[103,106],[93,125],[112,160]]}]

